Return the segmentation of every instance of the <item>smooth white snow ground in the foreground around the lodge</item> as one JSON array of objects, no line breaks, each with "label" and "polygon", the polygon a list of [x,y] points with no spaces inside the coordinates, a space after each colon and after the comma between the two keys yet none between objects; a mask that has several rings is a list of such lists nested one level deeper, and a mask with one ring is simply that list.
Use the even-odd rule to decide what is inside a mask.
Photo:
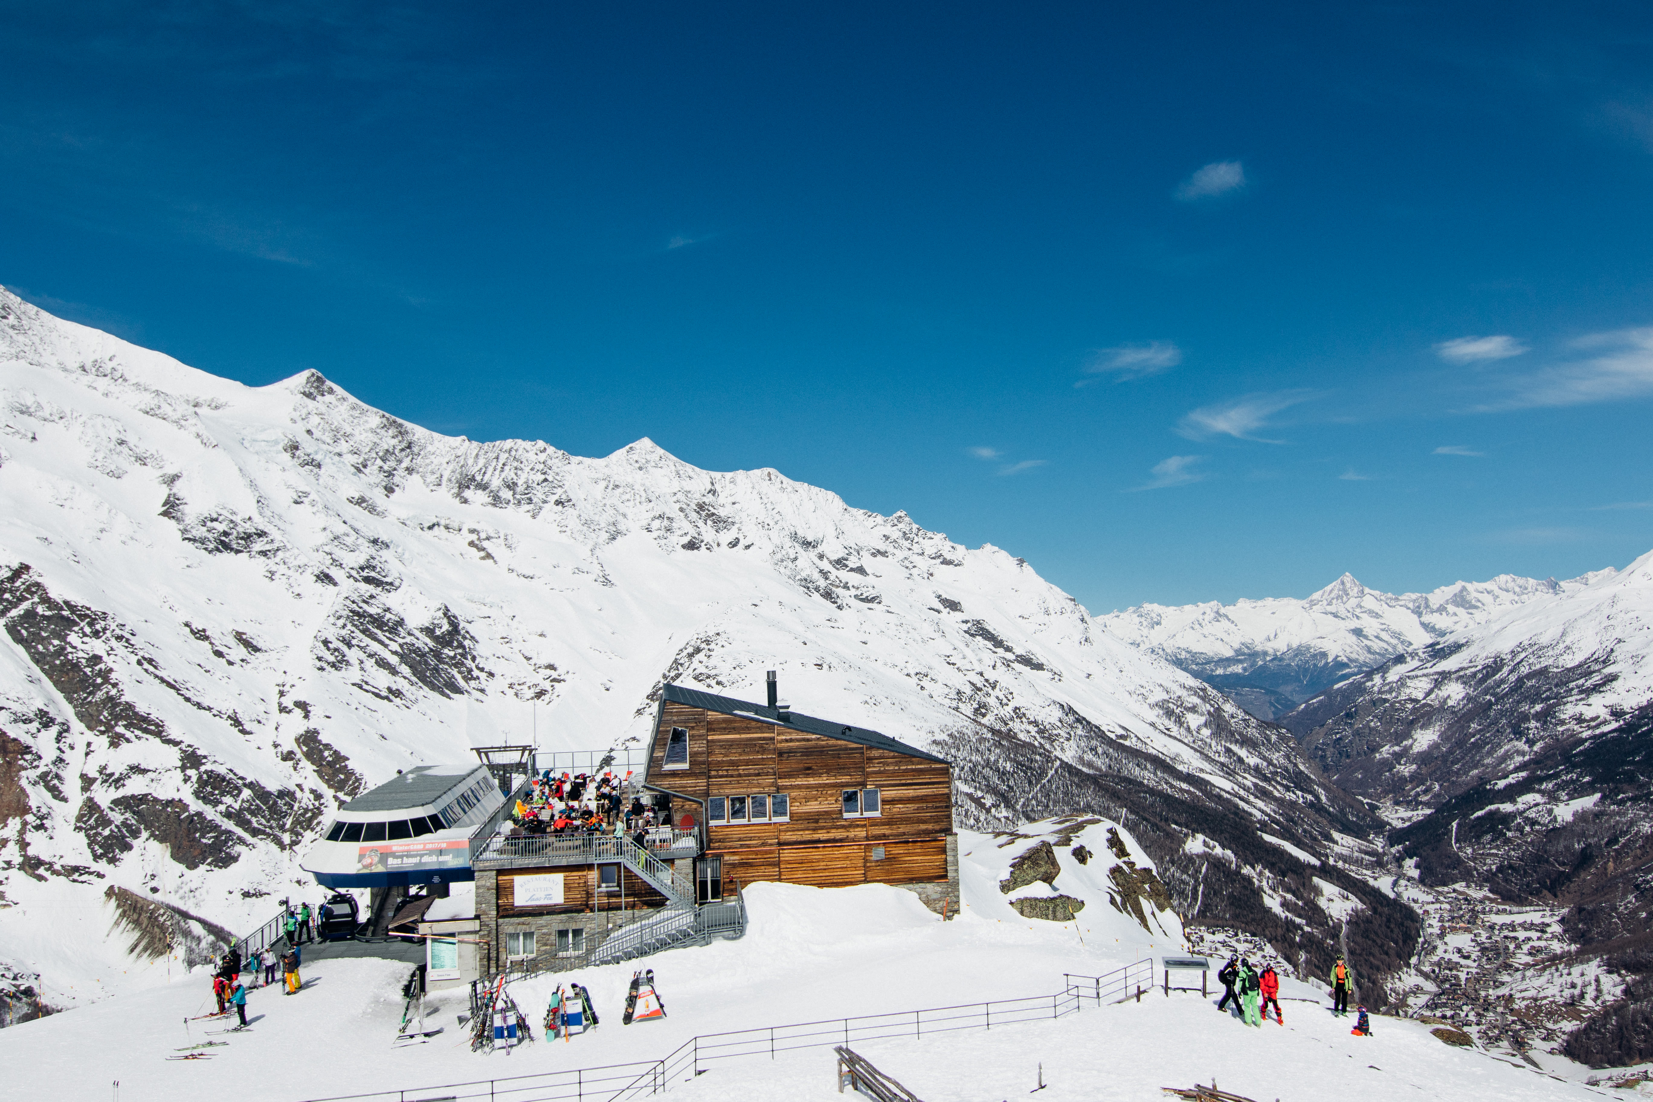
[{"label": "smooth white snow ground in the foreground around the lodge", "polygon": [[[965,851],[979,853],[993,839],[967,834],[962,841]],[[1121,843],[1136,849],[1129,836]],[[977,866],[972,879],[990,886],[993,862],[965,861]],[[881,886],[822,891],[754,884],[747,895],[752,927],[742,940],[650,958],[666,1006],[661,1021],[622,1024],[633,965],[613,965],[512,985],[512,998],[536,1026],[557,981],[579,980],[590,988],[602,1024],[567,1041],[547,1043],[541,1033],[509,1054],[474,1054],[458,1026],[458,1013],[468,1009],[464,993],[451,991],[428,1005],[425,1024],[441,1026],[441,1034],[393,1047],[407,968],[329,960],[304,970],[306,990],[298,996],[251,991],[250,1033],[210,1036],[203,1023],[182,1021],[210,1001],[207,976],[193,975],[0,1031],[5,1097],[107,1097],[111,1081],[119,1081],[122,1102],[291,1102],[370,1090],[388,1090],[372,1095],[385,1099],[486,1099],[486,1082],[436,1084],[506,1077],[516,1079],[496,1084],[501,1099],[572,1097],[577,1090],[608,1097],[615,1087],[602,1089],[605,1076],[641,1076],[645,1061],[658,1061],[694,1036],[739,1029],[749,1031],[744,1038],[750,1044],[721,1038],[696,1046],[701,1074],[691,1074],[694,1064],[673,1064],[666,1097],[843,1099],[831,1047],[788,1051],[787,1043],[831,1044],[843,1019],[871,1014],[886,1018],[874,1028],[843,1023],[853,1034],[851,1047],[917,1097],[941,1102],[1027,1095],[1040,1076],[1048,1084],[1040,1097],[1074,1100],[1160,1099],[1164,1085],[1213,1079],[1227,1090],[1281,1102],[1327,1095],[1365,1102],[1600,1095],[1580,1082],[1587,1072],[1577,1064],[1537,1054],[1546,1074],[1509,1052],[1450,1047],[1417,1021],[1374,1016],[1374,1036],[1351,1036],[1349,1019],[1329,1014],[1321,988],[1293,980],[1281,985],[1283,1026],[1245,1026],[1218,1013],[1215,998],[1167,998],[1157,990],[1141,1001],[1046,1016],[1053,1005],[1040,996],[1061,991],[1063,973],[1106,975],[1182,952],[1116,912],[1084,930],[1081,943],[1073,924],[1017,920],[1013,912],[977,910],[969,899],[959,919],[941,922],[911,894]],[[1036,1000],[1030,1005],[1040,1013],[1020,1014],[1020,1021],[1005,1014],[1003,1001],[1018,998]],[[965,1008],[988,1000],[1000,1001],[990,1028],[960,1028],[987,1024]],[[952,1009],[914,1013],[926,1008]],[[924,1034],[911,1036],[909,1023],[921,1021],[927,1023]],[[828,1024],[769,1033],[769,1026],[792,1023]],[[774,1056],[765,1044],[770,1036],[779,1038]],[[195,1049],[210,1052],[210,1061],[167,1062],[203,1039],[226,1044]],[[631,1064],[636,1067],[625,1067]],[[598,1071],[585,1072],[579,1081],[584,1087],[522,1079],[574,1069]]]}]

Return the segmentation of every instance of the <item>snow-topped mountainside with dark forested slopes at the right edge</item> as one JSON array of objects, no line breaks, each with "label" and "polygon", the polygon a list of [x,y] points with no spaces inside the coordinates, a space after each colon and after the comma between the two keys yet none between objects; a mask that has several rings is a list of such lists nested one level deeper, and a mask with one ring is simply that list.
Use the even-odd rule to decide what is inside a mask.
[{"label": "snow-topped mountainside with dark forested slopes at the right edge", "polygon": [[1427,884],[1567,907],[1575,945],[1635,978],[1575,1041],[1640,1059],[1638,1023],[1653,1019],[1638,948],[1653,940],[1653,552],[1398,656],[1281,724],[1339,785],[1397,810],[1407,824],[1390,843]]}]

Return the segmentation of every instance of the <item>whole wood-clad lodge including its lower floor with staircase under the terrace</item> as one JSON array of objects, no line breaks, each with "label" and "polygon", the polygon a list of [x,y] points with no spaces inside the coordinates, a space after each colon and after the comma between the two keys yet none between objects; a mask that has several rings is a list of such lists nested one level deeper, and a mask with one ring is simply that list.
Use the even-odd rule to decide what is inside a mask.
[{"label": "whole wood-clad lodge including its lower floor with staircase under the terrace", "polygon": [[473,857],[481,968],[615,963],[741,937],[741,886],[893,884],[959,909],[952,770],[865,727],[666,684],[641,778],[655,826],[494,836]]}]

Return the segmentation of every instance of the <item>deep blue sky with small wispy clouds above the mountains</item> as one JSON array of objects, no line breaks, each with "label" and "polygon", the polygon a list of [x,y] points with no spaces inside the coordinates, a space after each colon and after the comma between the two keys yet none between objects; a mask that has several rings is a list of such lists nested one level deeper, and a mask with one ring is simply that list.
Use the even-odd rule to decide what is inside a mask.
[{"label": "deep blue sky with small wispy clouds above the mountains", "polygon": [[779,468],[1094,611],[1653,547],[1645,5],[5,18],[0,283],[222,375]]}]

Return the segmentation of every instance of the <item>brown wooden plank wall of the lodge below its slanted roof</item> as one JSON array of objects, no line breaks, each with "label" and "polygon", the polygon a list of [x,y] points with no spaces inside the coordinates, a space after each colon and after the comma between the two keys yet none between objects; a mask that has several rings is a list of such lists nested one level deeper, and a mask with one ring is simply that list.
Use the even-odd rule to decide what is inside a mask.
[{"label": "brown wooden plank wall of the lodge below its slanted roof", "polygon": [[[686,770],[661,768],[671,727],[689,732]],[[668,702],[650,780],[699,798],[790,796],[788,823],[709,828],[707,856],[722,857],[724,881],[843,887],[947,879],[952,773],[944,762]],[[878,788],[883,813],[843,818],[845,788]],[[883,859],[873,859],[874,846],[884,848]]]}]

